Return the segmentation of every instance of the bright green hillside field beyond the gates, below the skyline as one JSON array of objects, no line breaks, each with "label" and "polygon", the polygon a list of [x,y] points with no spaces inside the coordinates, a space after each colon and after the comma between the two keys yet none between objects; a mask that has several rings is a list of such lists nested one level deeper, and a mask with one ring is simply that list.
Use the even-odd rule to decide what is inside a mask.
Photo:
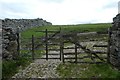
[{"label": "bright green hillside field beyond the gates, below the skyline", "polygon": [[106,32],[109,27],[111,27],[110,23],[101,23],[101,24],[79,24],[79,25],[52,25],[52,26],[43,26],[43,27],[34,27],[32,29],[28,29],[21,33],[23,38],[31,38],[32,35],[35,37],[41,37],[44,35],[42,32],[36,32],[39,30],[61,30],[63,32]]}]

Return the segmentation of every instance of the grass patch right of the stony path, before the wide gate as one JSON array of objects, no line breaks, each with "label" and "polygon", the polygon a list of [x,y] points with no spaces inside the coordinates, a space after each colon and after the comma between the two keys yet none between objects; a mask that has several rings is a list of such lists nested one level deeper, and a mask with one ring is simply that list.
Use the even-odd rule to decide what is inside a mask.
[{"label": "grass patch right of the stony path, before the wide gate", "polygon": [[120,72],[108,64],[60,64],[57,72],[62,78],[120,78]]}]

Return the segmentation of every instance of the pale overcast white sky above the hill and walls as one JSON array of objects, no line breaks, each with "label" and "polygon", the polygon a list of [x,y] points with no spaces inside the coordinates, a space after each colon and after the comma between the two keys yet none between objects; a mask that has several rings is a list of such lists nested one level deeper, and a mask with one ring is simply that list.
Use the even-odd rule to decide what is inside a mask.
[{"label": "pale overcast white sky above the hill and walls", "polygon": [[53,25],[108,23],[119,0],[0,0],[0,19],[42,18]]}]

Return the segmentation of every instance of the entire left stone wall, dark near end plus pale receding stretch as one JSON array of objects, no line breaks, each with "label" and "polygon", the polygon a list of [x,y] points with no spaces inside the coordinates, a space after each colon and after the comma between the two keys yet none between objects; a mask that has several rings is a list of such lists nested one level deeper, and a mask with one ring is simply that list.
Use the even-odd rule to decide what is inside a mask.
[{"label": "entire left stone wall, dark near end plus pale receding stretch", "polygon": [[4,19],[2,22],[2,58],[5,60],[16,59],[18,56],[17,33],[31,27],[52,25],[43,19]]}]

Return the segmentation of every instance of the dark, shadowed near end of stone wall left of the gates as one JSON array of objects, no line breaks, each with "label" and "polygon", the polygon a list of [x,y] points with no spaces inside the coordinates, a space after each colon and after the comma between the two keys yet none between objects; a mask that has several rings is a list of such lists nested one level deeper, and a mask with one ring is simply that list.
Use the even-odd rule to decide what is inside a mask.
[{"label": "dark, shadowed near end of stone wall left of the gates", "polygon": [[2,58],[15,59],[17,56],[17,36],[12,28],[3,28]]}]

